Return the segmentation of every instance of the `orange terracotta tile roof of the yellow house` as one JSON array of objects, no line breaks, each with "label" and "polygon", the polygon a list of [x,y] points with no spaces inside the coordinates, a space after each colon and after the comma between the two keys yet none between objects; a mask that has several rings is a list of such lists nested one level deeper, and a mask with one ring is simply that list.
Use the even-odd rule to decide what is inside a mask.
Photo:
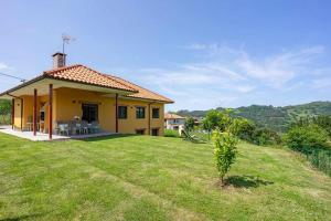
[{"label": "orange terracotta tile roof of the yellow house", "polygon": [[109,88],[128,91],[132,94],[126,96],[132,98],[173,103],[173,101],[160,94],[146,90],[120,77],[99,73],[82,64],[75,64],[71,66],[45,71],[44,75],[57,80],[67,80],[78,83],[93,84],[96,86],[105,86]]}]

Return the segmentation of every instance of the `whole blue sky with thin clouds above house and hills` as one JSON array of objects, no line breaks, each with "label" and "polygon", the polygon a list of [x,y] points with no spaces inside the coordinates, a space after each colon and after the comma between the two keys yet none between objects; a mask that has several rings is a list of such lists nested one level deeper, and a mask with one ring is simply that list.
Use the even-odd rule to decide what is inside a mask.
[{"label": "whole blue sky with thin clouds above house and hills", "polygon": [[[82,63],[175,101],[168,109],[331,99],[331,2],[1,1],[0,72]],[[19,84],[0,76],[0,91]]]}]

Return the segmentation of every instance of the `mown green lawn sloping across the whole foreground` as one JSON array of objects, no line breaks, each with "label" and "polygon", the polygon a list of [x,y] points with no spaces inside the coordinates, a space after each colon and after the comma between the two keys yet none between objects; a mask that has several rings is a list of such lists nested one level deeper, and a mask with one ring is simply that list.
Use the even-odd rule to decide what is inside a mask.
[{"label": "mown green lawn sloping across the whole foreground", "polygon": [[330,220],[330,177],[285,149],[238,150],[221,189],[209,144],[0,134],[0,220]]}]

